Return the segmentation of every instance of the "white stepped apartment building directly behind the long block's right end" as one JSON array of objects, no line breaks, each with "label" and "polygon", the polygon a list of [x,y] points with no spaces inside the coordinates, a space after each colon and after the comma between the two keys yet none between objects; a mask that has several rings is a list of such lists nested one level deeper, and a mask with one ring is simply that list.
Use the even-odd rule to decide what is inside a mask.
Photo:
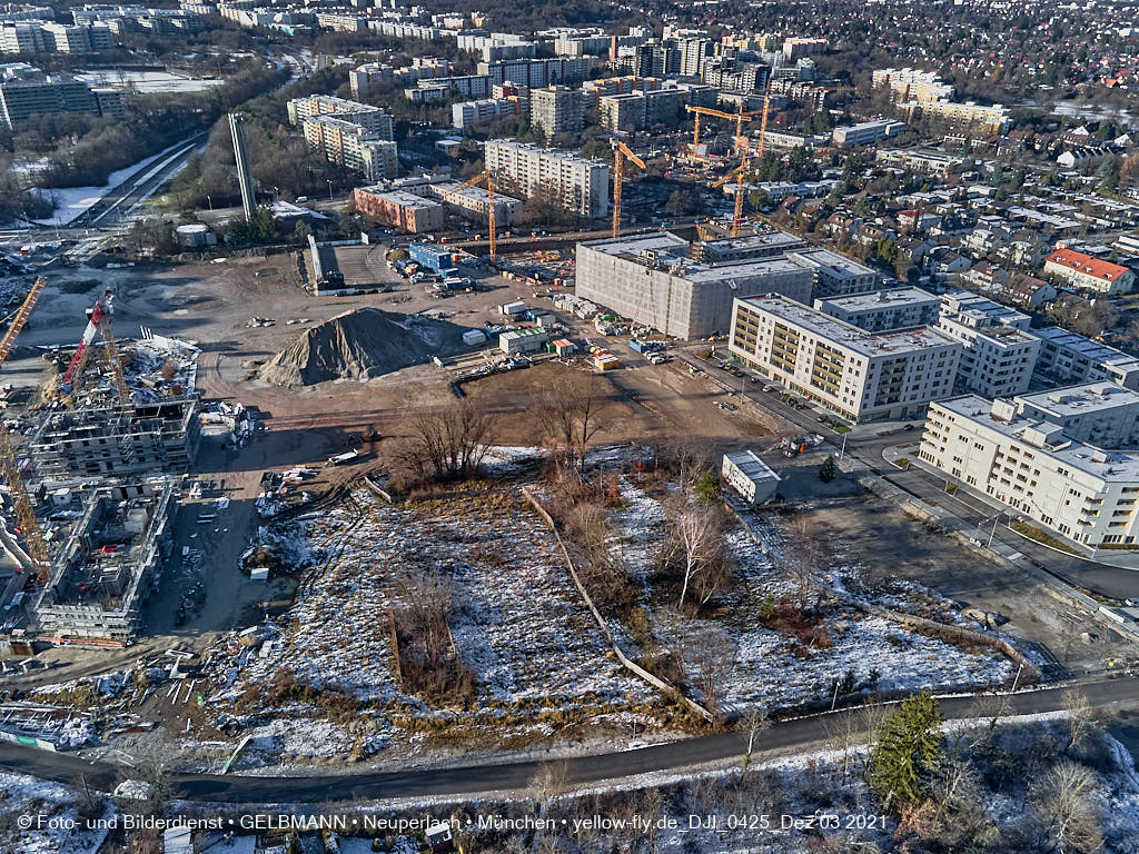
[{"label": "white stepped apartment building directly behind the long block's right end", "polygon": [[1027,328],[1027,314],[959,290],[945,296],[937,329],[964,345],[957,389],[984,397],[1029,389],[1040,340]]}]

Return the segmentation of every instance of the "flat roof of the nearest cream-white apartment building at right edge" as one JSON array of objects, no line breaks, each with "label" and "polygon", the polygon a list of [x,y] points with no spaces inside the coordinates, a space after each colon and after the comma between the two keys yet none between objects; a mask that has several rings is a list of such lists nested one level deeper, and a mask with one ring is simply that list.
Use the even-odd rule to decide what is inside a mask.
[{"label": "flat roof of the nearest cream-white apartment building at right edge", "polygon": [[1011,420],[995,418],[992,413],[992,402],[975,394],[937,401],[933,405],[942,407],[956,416],[974,420],[1009,440],[1038,447],[1054,460],[1101,481],[1111,483],[1139,481],[1139,454],[1105,451],[1095,445],[1073,442],[1064,435],[1059,426],[1047,421],[1038,421],[1032,418],[1014,418]]}]

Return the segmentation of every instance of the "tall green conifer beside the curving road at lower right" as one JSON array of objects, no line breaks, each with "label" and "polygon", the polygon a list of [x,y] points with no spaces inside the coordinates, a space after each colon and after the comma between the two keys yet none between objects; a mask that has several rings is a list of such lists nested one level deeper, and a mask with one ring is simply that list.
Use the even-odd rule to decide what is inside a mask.
[{"label": "tall green conifer beside the curving road at lower right", "polygon": [[944,759],[941,707],[928,693],[910,697],[882,724],[870,756],[870,785],[887,808],[900,810],[926,791]]}]

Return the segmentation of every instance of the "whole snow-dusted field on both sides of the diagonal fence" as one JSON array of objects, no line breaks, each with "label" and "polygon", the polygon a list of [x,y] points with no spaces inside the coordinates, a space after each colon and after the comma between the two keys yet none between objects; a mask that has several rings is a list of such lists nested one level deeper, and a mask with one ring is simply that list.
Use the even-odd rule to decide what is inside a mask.
[{"label": "whole snow-dusted field on both sides of the diagonal fence", "polygon": [[[630,453],[611,450],[597,462],[622,468]],[[534,457],[533,449],[495,447],[489,468],[517,477]],[[612,548],[644,591],[653,651],[679,657],[693,696],[702,696],[708,638],[728,650],[729,665],[716,676],[722,711],[825,703],[843,679],[857,692],[983,687],[1011,678],[1015,666],[995,652],[961,649],[855,608],[844,583],[857,576],[857,566],[820,567],[828,591],[819,619],[826,642],[804,643],[785,627],[769,627],[761,610],[789,598],[793,585],[781,560],[738,524],[727,534],[736,577],[720,607],[699,617],[678,611],[654,596],[650,582],[667,523],[662,495],[672,490],[648,494],[623,477],[621,507],[609,511]],[[767,516],[753,522],[765,524]],[[763,533],[778,539],[776,528]],[[607,655],[554,535],[517,483],[411,507],[358,488],[320,516],[262,528],[257,540],[286,565],[303,567],[297,599],[279,622],[279,635],[260,655],[241,657],[211,705],[236,714],[243,734],[276,745],[282,755],[383,754],[443,730],[456,737],[539,736],[567,721],[629,725],[636,716],[649,729],[663,723],[655,690]],[[424,585],[452,603],[454,650],[474,679],[469,700],[429,701],[400,681],[392,615]],[[877,593],[879,605],[928,614],[933,602],[945,622],[960,617],[916,585]],[[649,652],[615,621],[611,625],[634,660]],[[351,696],[360,714],[345,722],[319,703],[282,700],[249,717],[253,709],[243,698],[270,691],[281,674],[305,688]]]}]

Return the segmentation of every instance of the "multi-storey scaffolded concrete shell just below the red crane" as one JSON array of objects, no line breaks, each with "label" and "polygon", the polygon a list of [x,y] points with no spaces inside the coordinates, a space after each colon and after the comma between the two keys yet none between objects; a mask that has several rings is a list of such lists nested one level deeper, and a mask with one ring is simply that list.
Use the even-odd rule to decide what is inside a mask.
[{"label": "multi-storey scaffolded concrete shell just below the red crane", "polygon": [[185,473],[202,438],[197,400],[87,407],[47,414],[28,443],[39,481]]}]

